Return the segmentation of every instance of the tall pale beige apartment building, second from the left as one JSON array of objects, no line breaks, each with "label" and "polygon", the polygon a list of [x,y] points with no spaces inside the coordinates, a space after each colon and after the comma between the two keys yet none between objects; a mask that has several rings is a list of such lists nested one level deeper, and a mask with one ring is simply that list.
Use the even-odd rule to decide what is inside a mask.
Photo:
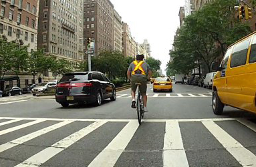
[{"label": "tall pale beige apartment building, second from the left", "polygon": [[[40,0],[38,47],[47,55],[63,58],[76,67],[84,60],[83,4],[78,0]],[[60,76],[59,76],[60,77]],[[53,79],[43,73],[43,81]]]}]

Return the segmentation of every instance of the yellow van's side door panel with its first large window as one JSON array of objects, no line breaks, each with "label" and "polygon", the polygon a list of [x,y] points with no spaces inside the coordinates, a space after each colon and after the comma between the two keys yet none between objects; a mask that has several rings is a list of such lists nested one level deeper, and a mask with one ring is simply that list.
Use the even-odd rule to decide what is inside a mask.
[{"label": "yellow van's side door panel with its first large window", "polygon": [[247,66],[247,54],[251,37],[234,45],[231,61],[227,70],[227,94],[228,104],[243,109],[245,94],[242,92],[243,83],[245,83],[245,73]]}]

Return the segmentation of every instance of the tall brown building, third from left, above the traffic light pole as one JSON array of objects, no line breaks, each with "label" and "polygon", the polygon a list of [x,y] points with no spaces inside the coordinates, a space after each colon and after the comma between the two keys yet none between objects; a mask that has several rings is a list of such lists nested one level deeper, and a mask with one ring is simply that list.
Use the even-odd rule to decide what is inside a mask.
[{"label": "tall brown building, third from left, above the traffic light pole", "polygon": [[84,39],[88,38],[94,40],[94,55],[114,50],[114,5],[110,0],[84,0]]}]

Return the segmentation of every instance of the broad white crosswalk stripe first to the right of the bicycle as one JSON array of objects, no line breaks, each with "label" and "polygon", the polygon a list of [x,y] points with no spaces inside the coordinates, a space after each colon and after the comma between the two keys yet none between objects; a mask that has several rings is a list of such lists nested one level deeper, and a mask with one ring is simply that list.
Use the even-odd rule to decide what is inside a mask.
[{"label": "broad white crosswalk stripe first to the right of the bicycle", "polygon": [[164,167],[189,166],[178,122],[166,122],[162,159]]}]

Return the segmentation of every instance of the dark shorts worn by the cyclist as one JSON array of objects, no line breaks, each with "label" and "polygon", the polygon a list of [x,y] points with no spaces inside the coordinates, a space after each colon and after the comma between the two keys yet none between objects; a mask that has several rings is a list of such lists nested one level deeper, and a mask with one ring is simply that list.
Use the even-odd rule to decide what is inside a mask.
[{"label": "dark shorts worn by the cyclist", "polygon": [[132,87],[133,92],[136,92],[136,90],[137,90],[137,86],[135,85],[135,83],[141,83],[141,85],[140,85],[140,94],[142,94],[142,95],[146,94],[146,84],[148,83],[146,77],[132,75],[132,77],[131,77],[131,87]]}]

